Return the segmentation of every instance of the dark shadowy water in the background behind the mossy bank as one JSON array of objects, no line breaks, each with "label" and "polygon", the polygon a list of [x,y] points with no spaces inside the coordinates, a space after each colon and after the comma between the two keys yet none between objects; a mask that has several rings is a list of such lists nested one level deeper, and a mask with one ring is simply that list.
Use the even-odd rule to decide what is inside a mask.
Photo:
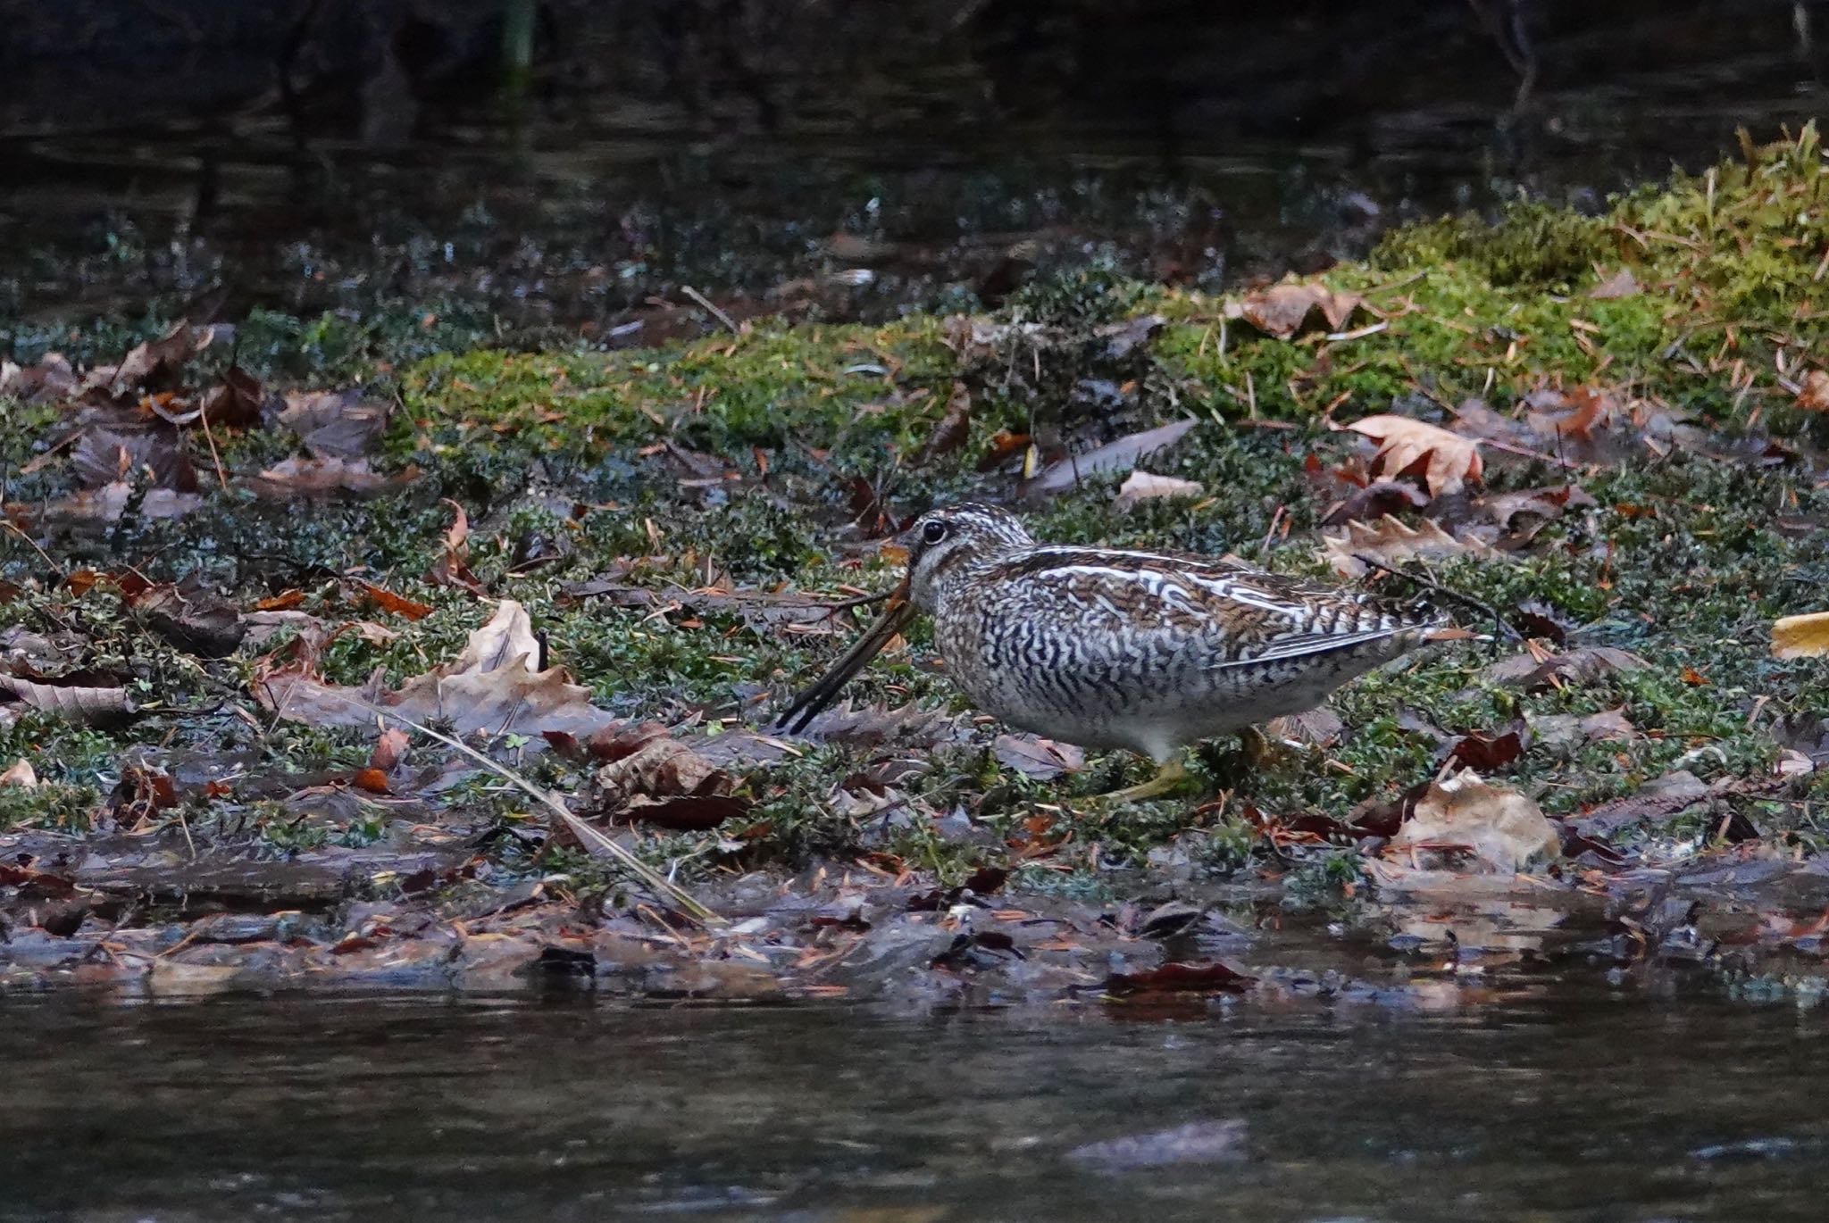
[{"label": "dark shadowy water in the background behind the mossy bank", "polygon": [[1531,4],[1527,69],[1483,2],[552,2],[514,104],[499,0],[38,7],[0,40],[0,342],[212,285],[225,318],[452,294],[536,340],[682,283],[847,318],[1088,258],[1214,287],[1593,205],[1824,97],[1774,0]]}]

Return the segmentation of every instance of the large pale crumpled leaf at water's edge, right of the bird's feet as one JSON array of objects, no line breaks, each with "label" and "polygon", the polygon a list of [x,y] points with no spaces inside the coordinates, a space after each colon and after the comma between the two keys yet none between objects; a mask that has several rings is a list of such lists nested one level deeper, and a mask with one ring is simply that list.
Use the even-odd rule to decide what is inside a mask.
[{"label": "large pale crumpled leaf at water's edge, right of the bird's feet", "polygon": [[[1485,863],[1487,874],[1516,874],[1555,859],[1562,837],[1536,803],[1463,770],[1430,782],[1416,801],[1416,814],[1385,850],[1386,857],[1403,861],[1441,857],[1443,852],[1472,854]],[[1417,865],[1428,867],[1427,861]]]}]

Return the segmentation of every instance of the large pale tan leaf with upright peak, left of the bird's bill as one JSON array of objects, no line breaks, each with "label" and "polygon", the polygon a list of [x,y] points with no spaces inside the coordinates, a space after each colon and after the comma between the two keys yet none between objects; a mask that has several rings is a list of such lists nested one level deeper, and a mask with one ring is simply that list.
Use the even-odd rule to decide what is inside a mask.
[{"label": "large pale tan leaf with upright peak, left of the bird's bill", "polygon": [[313,726],[373,726],[377,715],[399,713],[415,722],[450,722],[461,735],[585,737],[616,720],[593,707],[591,689],[572,684],[563,667],[536,671],[540,653],[527,611],[503,600],[457,658],[399,691],[382,691],[379,671],[362,687],[344,687],[294,664],[265,671],[254,682],[254,697],[280,717]]}]

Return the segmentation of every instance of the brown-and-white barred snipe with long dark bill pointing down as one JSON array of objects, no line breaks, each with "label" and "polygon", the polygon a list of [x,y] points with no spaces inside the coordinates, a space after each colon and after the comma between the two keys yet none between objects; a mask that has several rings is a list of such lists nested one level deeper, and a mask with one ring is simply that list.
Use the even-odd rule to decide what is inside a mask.
[{"label": "brown-and-white barred snipe with long dark bill pointing down", "polygon": [[1172,792],[1183,750],[1302,713],[1397,658],[1447,618],[1231,558],[1037,543],[1002,506],[933,508],[898,537],[907,572],[882,614],[777,720],[792,733],[920,612],[973,706],[1081,748],[1125,748],[1158,773],[1105,795]]}]

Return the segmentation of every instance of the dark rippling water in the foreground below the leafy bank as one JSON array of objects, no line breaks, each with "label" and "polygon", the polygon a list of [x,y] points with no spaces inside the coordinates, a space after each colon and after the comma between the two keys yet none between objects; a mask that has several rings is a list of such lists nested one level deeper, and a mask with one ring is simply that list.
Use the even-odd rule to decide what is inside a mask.
[{"label": "dark rippling water in the foreground below the leafy bank", "polygon": [[[1822,1218],[1820,1015],[1578,993],[1193,1024],[7,998],[0,1218]],[[1068,1155],[1233,1121],[1242,1159]]]}]

